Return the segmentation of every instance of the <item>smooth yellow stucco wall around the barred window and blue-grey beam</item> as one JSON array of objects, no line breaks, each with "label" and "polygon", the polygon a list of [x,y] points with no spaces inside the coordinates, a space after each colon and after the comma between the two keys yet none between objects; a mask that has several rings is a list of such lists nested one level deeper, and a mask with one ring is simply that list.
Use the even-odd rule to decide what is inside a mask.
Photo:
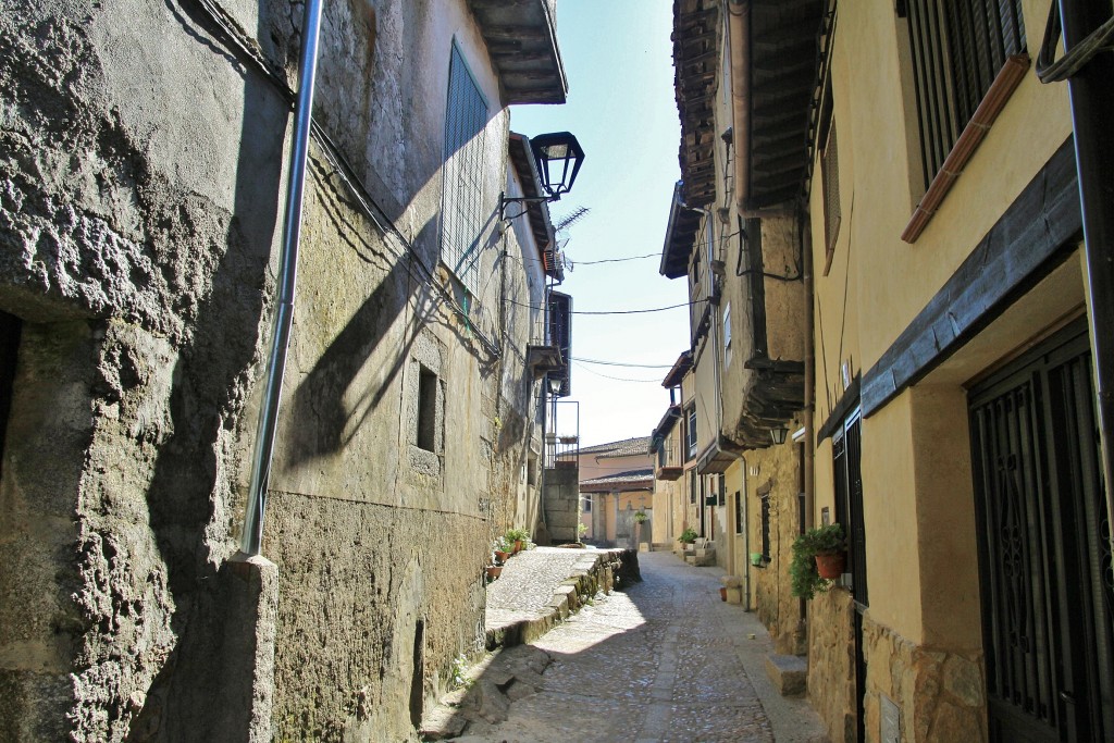
[{"label": "smooth yellow stucco wall around the barred window and blue-grey beam", "polygon": [[[1048,2],[1027,0],[1024,9],[1035,56]],[[839,13],[832,86],[842,223],[827,276],[822,189],[814,187],[810,199],[818,426],[843,392],[841,364],[853,375],[878,361],[1071,134],[1066,86],[1040,85],[1030,69],[924,234],[916,244],[901,242],[921,195],[919,163],[910,160],[919,135],[911,78],[902,78],[903,20],[877,3],[844,3]],[[1037,307],[1030,335],[1063,310]],[[984,353],[983,363],[1007,351]],[[863,517],[873,619],[912,642],[967,646],[978,638],[959,617],[977,618],[977,595],[969,594],[977,587],[976,565],[949,566],[947,557],[949,547],[974,547],[960,387],[969,377],[958,377],[947,388],[907,391],[863,420]],[[831,444],[824,441],[817,450],[818,522],[822,507],[833,508],[832,492]],[[949,541],[949,532],[964,537]],[[959,600],[951,616],[938,608],[949,583],[967,592],[949,595]]]}]

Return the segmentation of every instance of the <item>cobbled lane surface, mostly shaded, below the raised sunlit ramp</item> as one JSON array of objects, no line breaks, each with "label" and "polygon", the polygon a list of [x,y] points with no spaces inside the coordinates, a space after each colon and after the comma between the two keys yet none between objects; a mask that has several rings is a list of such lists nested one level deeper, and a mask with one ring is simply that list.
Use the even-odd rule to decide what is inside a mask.
[{"label": "cobbled lane surface, mostly shaded, below the raised sunlit ramp", "polygon": [[[803,700],[773,691],[763,666],[769,637],[752,614],[720,600],[722,570],[671,553],[639,561],[643,583],[583,608],[532,647],[506,651],[502,668],[492,664],[491,678],[477,680],[483,704],[505,694],[499,714],[455,740],[825,740]],[[515,663],[529,668],[516,676]]]}]

